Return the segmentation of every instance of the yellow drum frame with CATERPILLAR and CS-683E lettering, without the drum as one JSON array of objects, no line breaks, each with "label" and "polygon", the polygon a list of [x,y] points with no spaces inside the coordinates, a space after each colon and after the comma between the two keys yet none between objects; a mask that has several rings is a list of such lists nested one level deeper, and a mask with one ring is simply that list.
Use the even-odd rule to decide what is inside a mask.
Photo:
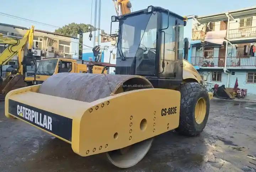
[{"label": "yellow drum frame with CATERPILLAR and CS-683E lettering, without the drum", "polygon": [[81,156],[124,148],[179,124],[180,92],[175,90],[134,90],[88,103],[38,93],[40,86],[10,91],[5,115],[70,143]]}]

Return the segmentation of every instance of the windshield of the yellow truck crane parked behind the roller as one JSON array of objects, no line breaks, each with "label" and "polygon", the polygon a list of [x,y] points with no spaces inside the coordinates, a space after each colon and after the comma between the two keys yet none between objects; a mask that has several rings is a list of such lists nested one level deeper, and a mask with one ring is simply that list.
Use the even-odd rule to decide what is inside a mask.
[{"label": "windshield of the yellow truck crane parked behind the roller", "polygon": [[53,75],[58,59],[40,61],[37,68],[37,75]]}]

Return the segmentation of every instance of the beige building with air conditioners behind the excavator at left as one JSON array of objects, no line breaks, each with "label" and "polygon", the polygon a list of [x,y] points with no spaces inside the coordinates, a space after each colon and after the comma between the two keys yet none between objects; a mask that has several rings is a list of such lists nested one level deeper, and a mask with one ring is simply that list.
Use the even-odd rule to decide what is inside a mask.
[{"label": "beige building with air conditioners behind the excavator at left", "polygon": [[[0,33],[4,36],[21,39],[28,28],[0,23]],[[44,30],[34,30],[33,50],[42,58],[64,57],[78,59],[79,53],[79,35],[78,38],[65,36]],[[5,50],[5,45],[0,44],[0,53]],[[3,71],[9,65],[17,65],[17,56],[3,66]]]}]

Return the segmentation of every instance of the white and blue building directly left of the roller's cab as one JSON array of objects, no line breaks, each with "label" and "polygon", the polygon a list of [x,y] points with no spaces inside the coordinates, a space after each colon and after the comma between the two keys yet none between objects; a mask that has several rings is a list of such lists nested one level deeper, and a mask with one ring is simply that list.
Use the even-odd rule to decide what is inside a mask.
[{"label": "white and blue building directly left of the roller's cab", "polygon": [[[92,39],[90,40],[90,32],[83,33],[83,50],[82,59],[85,61],[94,61],[94,53],[92,48],[99,45],[101,50],[98,55],[100,62],[116,64],[116,39],[108,34],[103,34],[102,30],[92,31]],[[110,73],[113,73],[114,68],[110,68]]]}]

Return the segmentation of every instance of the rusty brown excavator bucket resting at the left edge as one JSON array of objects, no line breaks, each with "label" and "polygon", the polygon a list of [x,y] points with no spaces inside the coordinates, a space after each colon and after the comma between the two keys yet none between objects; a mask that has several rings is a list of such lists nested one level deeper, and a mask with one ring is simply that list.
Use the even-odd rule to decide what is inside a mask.
[{"label": "rusty brown excavator bucket resting at the left edge", "polygon": [[27,84],[23,80],[23,75],[9,75],[0,85],[0,94],[5,96],[11,90],[26,86]]}]

